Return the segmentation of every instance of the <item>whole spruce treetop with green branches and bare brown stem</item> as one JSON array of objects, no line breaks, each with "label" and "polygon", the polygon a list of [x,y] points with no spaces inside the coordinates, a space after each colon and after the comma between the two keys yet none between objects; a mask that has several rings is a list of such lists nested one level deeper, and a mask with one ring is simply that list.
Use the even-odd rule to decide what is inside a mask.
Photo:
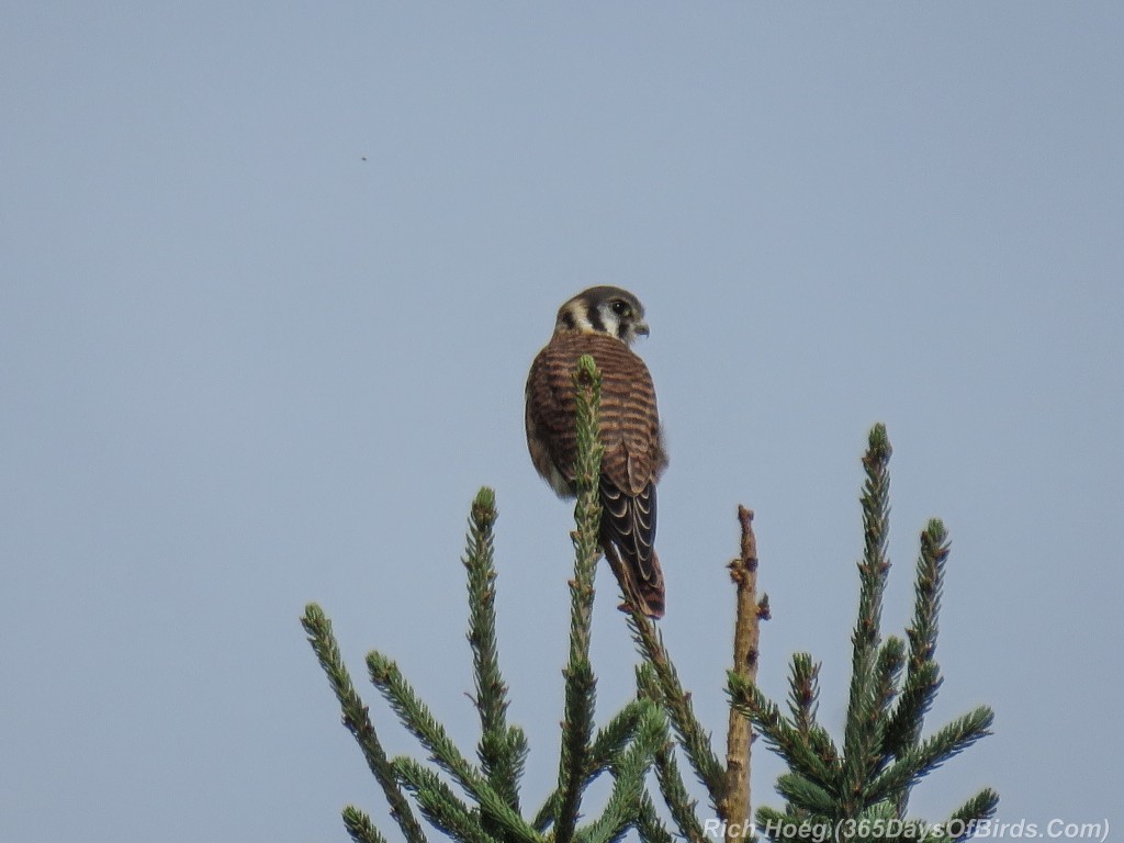
[{"label": "whole spruce treetop with green branches and bare brown stem", "polygon": [[[734,664],[728,673],[729,724],[726,760],[714,749],[710,734],[694,711],[691,695],[679,680],[674,663],[655,624],[633,609],[628,627],[642,656],[636,667],[636,697],[597,723],[597,678],[590,663],[593,572],[600,551],[600,505],[597,486],[601,445],[598,442],[600,373],[593,360],[582,357],[573,378],[577,396],[579,457],[574,507],[574,577],[570,581],[569,660],[563,670],[564,710],[558,759],[558,785],[534,814],[525,813],[522,791],[528,743],[523,729],[507,720],[508,686],[500,671],[496,641],[496,568],[492,531],[495,493],[483,488],[472,504],[468,550],[469,647],[480,718],[474,761],[448,738],[444,727],[417,698],[397,664],[372,651],[366,658],[370,679],[402,725],[422,744],[430,764],[400,756],[388,759],[378,732],[343,663],[332,624],[316,605],[301,619],[309,642],[339,701],[343,724],[355,737],[372,774],[387,798],[391,818],[407,843],[425,843],[417,814],[453,840],[465,843],[609,843],[629,830],[652,843],[682,837],[694,843],[717,836],[734,841],[751,833],[751,722],[789,765],[778,781],[787,799],[785,812],[758,810],[758,823],[773,823],[774,840],[806,821],[834,822],[905,817],[910,788],[925,772],[960,752],[991,722],[988,709],[977,709],[935,735],[922,740],[924,715],[940,685],[933,661],[936,613],[948,543],[937,522],[923,534],[918,561],[917,606],[905,644],[879,637],[888,511],[885,468],[889,444],[885,429],[871,433],[863,497],[867,551],[860,565],[860,614],[853,635],[854,673],[842,751],[816,723],[818,665],[807,654],[792,662],[790,716],[756,688],[759,622],[769,617],[768,597],[756,596],[756,545],[753,514],[738,509],[741,553],[731,564],[736,586]],[[877,439],[877,446],[876,446]],[[905,670],[905,679],[900,674]],[[700,810],[680,771],[686,760],[706,792]],[[651,774],[650,774],[651,773]],[[600,776],[613,780],[608,799],[593,810],[584,799],[587,787]],[[652,781],[654,779],[654,782]],[[955,816],[982,817],[994,812],[997,797],[984,790]],[[417,813],[415,813],[415,809]],[[343,812],[347,833],[356,843],[386,839],[355,806]],[[851,833],[847,840],[877,834]],[[951,840],[950,835],[949,839]],[[882,835],[885,839],[886,835]]]}]

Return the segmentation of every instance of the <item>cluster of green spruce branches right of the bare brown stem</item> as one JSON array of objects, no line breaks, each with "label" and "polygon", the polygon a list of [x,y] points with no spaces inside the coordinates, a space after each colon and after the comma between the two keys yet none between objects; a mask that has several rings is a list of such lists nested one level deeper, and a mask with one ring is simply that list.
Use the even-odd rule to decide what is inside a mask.
[{"label": "cluster of green spruce branches right of the bare brown stem", "polygon": [[936,618],[949,538],[939,519],[921,534],[908,650],[899,637],[881,638],[882,595],[890,570],[886,551],[890,453],[885,426],[876,425],[862,461],[864,547],[842,746],[816,719],[819,664],[808,653],[792,656],[787,715],[753,683],[729,677],[733,706],[753,720],[789,768],[777,781],[787,800],[785,810],[756,812],[758,828],[770,840],[807,839],[806,830],[818,827],[831,828],[839,841],[921,836],[953,841],[969,836],[972,822],[990,817],[999,800],[994,790],[984,788],[940,824],[907,814],[917,781],[989,734],[994,714],[980,706],[922,738],[925,715],[943,681],[935,659]]}]

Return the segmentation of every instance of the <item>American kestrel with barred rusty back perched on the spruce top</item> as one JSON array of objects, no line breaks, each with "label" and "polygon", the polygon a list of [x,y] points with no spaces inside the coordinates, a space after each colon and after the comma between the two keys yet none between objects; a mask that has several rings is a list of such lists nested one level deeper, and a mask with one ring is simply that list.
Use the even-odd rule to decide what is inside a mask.
[{"label": "American kestrel with barred rusty back perched on the spruce top", "polygon": [[625,599],[663,617],[663,571],[655,553],[655,483],[668,464],[644,361],[628,347],[647,336],[644,306],[618,287],[591,287],[561,308],[554,335],[527,375],[527,447],[561,498],[577,495],[572,375],[582,354],[601,371],[600,544]]}]

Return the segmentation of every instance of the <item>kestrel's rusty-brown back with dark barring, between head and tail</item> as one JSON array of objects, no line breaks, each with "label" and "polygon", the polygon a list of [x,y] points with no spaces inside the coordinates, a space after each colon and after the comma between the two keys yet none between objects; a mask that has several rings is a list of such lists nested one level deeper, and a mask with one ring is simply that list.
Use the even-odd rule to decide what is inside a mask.
[{"label": "kestrel's rusty-brown back with dark barring, between head and tail", "polygon": [[573,493],[578,441],[572,375],[582,354],[601,371],[601,473],[618,489],[640,495],[667,465],[655,388],[644,361],[604,334],[555,334],[527,377],[527,444],[555,491]]}]

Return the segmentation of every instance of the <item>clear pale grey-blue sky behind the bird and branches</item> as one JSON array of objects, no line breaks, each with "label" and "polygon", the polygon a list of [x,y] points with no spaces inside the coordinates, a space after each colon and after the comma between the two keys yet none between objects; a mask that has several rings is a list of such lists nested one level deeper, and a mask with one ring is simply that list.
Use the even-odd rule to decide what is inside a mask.
[{"label": "clear pale grey-blue sky behind the bird and branches", "polygon": [[[558,306],[646,305],[663,631],[725,728],[735,508],[840,733],[869,426],[885,620],[953,538],[942,818],[1108,819],[1124,729],[1124,4],[4,3],[0,839],[343,840],[381,795],[298,617],[475,737],[469,504],[497,490],[527,801],[555,774],[570,507],[523,434]],[[602,571],[605,718],[634,654]],[[780,767],[754,754],[754,803]]]}]

